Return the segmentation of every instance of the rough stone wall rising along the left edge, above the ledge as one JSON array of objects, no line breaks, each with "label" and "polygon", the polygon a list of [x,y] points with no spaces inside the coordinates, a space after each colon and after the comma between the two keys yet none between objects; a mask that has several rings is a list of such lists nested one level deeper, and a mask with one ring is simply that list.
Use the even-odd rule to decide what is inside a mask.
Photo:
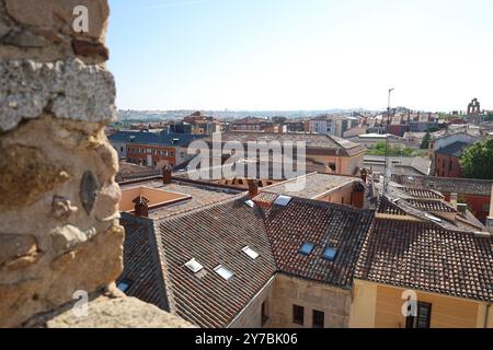
[{"label": "rough stone wall rising along the left edge, above the ledge", "polygon": [[0,327],[98,296],[122,272],[108,13],[106,0],[0,0]]}]

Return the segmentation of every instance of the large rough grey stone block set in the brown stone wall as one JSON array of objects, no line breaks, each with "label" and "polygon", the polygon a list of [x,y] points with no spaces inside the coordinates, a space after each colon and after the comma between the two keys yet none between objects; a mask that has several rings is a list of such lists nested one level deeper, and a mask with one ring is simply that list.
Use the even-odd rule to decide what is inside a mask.
[{"label": "large rough grey stone block set in the brown stone wall", "polygon": [[43,112],[58,118],[93,122],[115,119],[112,74],[79,59],[41,63],[33,60],[0,62],[0,131]]}]

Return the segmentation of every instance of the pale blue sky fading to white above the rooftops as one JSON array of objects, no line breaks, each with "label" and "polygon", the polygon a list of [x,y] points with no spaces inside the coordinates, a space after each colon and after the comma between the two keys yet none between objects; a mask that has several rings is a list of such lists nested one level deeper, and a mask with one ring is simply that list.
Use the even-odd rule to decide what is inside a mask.
[{"label": "pale blue sky fading to white above the rooftops", "polygon": [[118,108],[493,109],[491,0],[110,0]]}]

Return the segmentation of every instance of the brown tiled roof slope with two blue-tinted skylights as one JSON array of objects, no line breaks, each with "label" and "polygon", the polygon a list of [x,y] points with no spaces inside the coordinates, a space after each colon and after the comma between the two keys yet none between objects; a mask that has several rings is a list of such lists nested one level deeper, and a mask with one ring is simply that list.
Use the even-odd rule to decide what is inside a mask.
[{"label": "brown tiled roof slope with two blue-tinted skylights", "polygon": [[[294,198],[287,207],[272,206],[265,224],[277,267],[301,278],[349,288],[355,264],[374,215],[371,211]],[[301,255],[305,242],[316,245]],[[322,258],[325,247],[337,249],[334,261]]]}]

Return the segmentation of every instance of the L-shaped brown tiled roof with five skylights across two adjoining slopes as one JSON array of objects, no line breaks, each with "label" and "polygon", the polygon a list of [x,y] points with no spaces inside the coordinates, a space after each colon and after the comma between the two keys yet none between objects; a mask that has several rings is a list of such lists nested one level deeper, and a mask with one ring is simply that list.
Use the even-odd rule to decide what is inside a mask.
[{"label": "L-shaped brown tiled roof with five skylights across two adjoining slopes", "polygon": [[[226,327],[276,272],[351,287],[371,211],[299,198],[264,210],[250,208],[245,200],[232,198],[154,221],[170,307],[177,315],[200,327]],[[122,223],[138,232],[131,223]],[[298,253],[305,241],[316,244],[309,256]],[[140,244],[136,242],[129,245]],[[245,246],[260,256],[252,260],[241,252]],[[337,249],[334,261],[322,258],[326,246]],[[130,255],[133,249],[126,246],[124,252],[126,271],[136,269],[133,265],[146,266],[140,259],[149,261],[149,257]],[[192,258],[204,266],[195,275],[184,266]],[[231,280],[215,272],[218,265],[233,272]],[[160,266],[146,268],[159,270]],[[134,289],[129,295],[140,298],[140,291]]]}]

